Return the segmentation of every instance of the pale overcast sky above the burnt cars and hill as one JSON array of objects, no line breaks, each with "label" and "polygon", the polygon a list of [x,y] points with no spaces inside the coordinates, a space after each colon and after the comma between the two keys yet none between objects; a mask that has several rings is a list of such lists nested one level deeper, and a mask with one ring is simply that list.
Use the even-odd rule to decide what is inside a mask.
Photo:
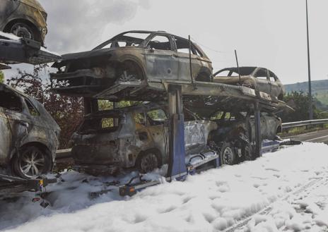
[{"label": "pale overcast sky above the burnt cars and hill", "polygon": [[[194,42],[213,71],[269,68],[285,84],[307,81],[305,0],[39,0],[48,13],[47,49],[93,49],[127,30],[165,30]],[[308,0],[312,80],[328,78],[328,1]],[[32,69],[28,65],[15,68]]]}]

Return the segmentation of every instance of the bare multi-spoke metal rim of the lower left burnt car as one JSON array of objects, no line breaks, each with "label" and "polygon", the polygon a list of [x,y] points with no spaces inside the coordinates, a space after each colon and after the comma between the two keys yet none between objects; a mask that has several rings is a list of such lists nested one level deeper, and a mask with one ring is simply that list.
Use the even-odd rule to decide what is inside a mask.
[{"label": "bare multi-spoke metal rim of the lower left burnt car", "polygon": [[25,176],[39,176],[45,169],[45,156],[39,151],[31,150],[23,154],[18,165]]}]

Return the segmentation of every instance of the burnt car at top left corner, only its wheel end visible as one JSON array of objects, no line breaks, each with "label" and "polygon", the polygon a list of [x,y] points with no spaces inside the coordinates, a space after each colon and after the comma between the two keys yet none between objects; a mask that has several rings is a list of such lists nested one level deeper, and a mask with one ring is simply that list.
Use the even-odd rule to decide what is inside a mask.
[{"label": "burnt car at top left corner, only its wheel end visible", "polygon": [[47,13],[36,0],[1,0],[0,30],[33,39],[42,45],[47,35]]}]

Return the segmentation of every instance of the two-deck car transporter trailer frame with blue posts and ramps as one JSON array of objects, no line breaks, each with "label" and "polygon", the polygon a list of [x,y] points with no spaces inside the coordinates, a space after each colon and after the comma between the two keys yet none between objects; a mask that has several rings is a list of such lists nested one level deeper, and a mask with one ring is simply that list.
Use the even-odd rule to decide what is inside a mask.
[{"label": "two-deck car transporter trailer frame with blue posts and ramps", "polygon": [[[6,64],[12,63],[31,63],[41,64],[58,61],[61,56],[54,54],[40,46],[40,43],[30,39],[21,39],[7,36],[8,34],[0,32],[0,62]],[[0,68],[10,68],[4,64]],[[119,82],[106,90],[99,92],[93,97],[85,97],[86,113],[93,111],[92,102],[95,99],[108,99],[112,102],[119,100],[144,100],[153,101],[152,94],[145,94],[146,91],[152,92],[160,96],[168,102],[170,114],[170,134],[169,134],[169,162],[168,172],[165,176],[166,181],[182,181],[188,174],[194,174],[210,168],[221,166],[220,155],[215,151],[210,156],[197,154],[189,159],[189,164],[185,164],[185,128],[183,114],[183,96],[199,97],[211,96],[217,99],[230,101],[245,101],[252,104],[252,110],[255,118],[255,140],[250,141],[254,147],[254,158],[260,157],[262,152],[278,149],[279,142],[271,141],[262,144],[260,133],[260,111],[262,108],[275,111],[286,106],[284,102],[271,99],[269,94],[264,92],[255,92],[248,87],[225,85],[221,83],[197,82],[191,78],[191,81],[177,80],[146,80],[146,81],[127,81]],[[83,96],[81,96],[83,97]],[[192,159],[199,157],[201,161],[192,163]],[[137,183],[134,183],[135,180]],[[21,192],[24,190],[42,191],[48,183],[54,181],[45,177],[34,180],[24,180],[13,176],[0,176],[0,190],[2,193]],[[160,181],[145,181],[142,176],[132,178],[129,183],[124,185],[115,185],[113,188],[119,189],[119,194],[134,195],[137,191],[142,190],[151,185],[157,185]],[[101,193],[105,193],[102,190]],[[1,193],[1,192],[0,192]],[[95,195],[101,193],[93,193]]]}]

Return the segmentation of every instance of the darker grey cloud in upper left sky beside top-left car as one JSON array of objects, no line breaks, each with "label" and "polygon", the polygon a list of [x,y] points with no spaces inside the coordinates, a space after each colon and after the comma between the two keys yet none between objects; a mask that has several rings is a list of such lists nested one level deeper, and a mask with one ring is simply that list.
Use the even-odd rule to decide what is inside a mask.
[{"label": "darker grey cloud in upper left sky beside top-left car", "polygon": [[109,24],[123,25],[138,8],[150,8],[148,0],[40,0],[48,13],[45,44],[59,53],[90,49],[86,44],[102,35]]}]

